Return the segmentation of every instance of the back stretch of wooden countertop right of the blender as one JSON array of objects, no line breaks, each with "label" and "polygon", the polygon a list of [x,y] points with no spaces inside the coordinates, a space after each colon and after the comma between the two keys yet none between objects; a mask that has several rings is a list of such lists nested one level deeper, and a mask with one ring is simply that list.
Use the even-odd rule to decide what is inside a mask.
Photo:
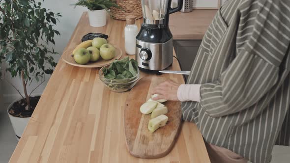
[{"label": "back stretch of wooden countertop right of the blender", "polygon": [[169,16],[174,40],[202,40],[217,10],[176,12]]}]

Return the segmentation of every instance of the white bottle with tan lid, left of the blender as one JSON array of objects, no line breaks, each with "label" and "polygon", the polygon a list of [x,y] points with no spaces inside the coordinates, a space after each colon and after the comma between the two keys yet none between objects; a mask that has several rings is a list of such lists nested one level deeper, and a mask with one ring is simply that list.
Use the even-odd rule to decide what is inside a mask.
[{"label": "white bottle with tan lid, left of the blender", "polygon": [[124,29],[125,35],[125,51],[128,55],[136,54],[136,36],[138,34],[138,27],[136,25],[136,16],[126,16],[126,27]]}]

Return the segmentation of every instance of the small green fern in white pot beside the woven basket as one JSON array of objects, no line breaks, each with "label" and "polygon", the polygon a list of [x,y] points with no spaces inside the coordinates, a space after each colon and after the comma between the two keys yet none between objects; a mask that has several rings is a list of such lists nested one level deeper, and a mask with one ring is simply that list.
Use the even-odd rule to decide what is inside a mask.
[{"label": "small green fern in white pot beside the woven basket", "polygon": [[106,25],[107,14],[111,7],[118,7],[113,0],[79,0],[75,6],[87,7],[89,24],[92,27],[103,27]]}]

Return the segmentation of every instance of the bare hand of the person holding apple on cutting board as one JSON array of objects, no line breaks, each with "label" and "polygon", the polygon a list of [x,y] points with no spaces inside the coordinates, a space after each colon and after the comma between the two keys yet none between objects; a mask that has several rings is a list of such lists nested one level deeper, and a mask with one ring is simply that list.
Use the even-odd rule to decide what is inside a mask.
[{"label": "bare hand of the person holding apple on cutting board", "polygon": [[180,84],[171,80],[160,83],[152,91],[152,94],[158,94],[159,96],[153,98],[152,100],[165,99],[171,101],[178,101],[177,89],[179,85]]}]

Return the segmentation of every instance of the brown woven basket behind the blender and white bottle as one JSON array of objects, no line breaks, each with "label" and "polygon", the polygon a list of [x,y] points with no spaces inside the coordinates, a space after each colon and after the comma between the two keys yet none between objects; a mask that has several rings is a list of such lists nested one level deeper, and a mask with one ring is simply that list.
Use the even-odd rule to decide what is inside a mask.
[{"label": "brown woven basket behind the blender and white bottle", "polygon": [[116,0],[122,9],[112,7],[111,14],[114,19],[126,20],[126,16],[134,15],[137,19],[142,18],[141,0]]}]

